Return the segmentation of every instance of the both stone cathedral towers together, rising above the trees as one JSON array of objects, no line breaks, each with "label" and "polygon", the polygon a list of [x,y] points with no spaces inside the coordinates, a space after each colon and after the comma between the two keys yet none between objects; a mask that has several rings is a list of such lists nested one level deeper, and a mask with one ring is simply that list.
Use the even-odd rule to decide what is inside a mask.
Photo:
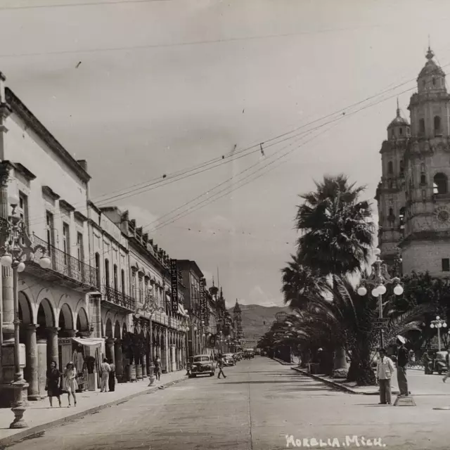
[{"label": "both stone cathedral towers together, rising above the trees", "polygon": [[[444,71],[433,58],[428,49],[418,90],[409,103],[411,126],[406,121],[394,124],[388,130],[389,143],[383,143],[382,186],[377,192],[380,248],[385,257],[401,248],[406,274],[449,276],[450,94]],[[404,181],[395,188],[398,179]]]}]

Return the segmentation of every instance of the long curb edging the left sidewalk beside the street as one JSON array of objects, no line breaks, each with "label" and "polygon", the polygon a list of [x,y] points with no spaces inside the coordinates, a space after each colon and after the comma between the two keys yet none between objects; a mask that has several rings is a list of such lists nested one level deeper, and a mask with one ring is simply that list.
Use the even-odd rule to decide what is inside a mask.
[{"label": "long curb edging the left sidewalk beside the street", "polygon": [[177,383],[181,383],[181,381],[187,380],[188,377],[185,375],[183,378],[179,378],[178,380],[168,381],[162,385],[151,386],[146,390],[142,390],[140,392],[134,392],[134,394],[129,394],[126,397],[122,397],[121,399],[117,399],[114,401],[110,401],[109,403],[105,403],[102,405],[94,406],[93,408],[86,409],[84,411],[80,411],[79,413],[72,414],[71,416],[63,417],[60,419],[52,420],[51,422],[43,423],[41,425],[37,425],[32,428],[27,428],[21,432],[16,433],[15,435],[11,435],[8,437],[4,437],[0,439],[0,449],[3,450],[7,446],[11,446],[12,444],[17,444],[24,439],[30,438],[34,435],[44,434],[45,430],[49,430],[51,428],[55,428],[58,425],[62,425],[63,423],[72,422],[73,420],[77,420],[84,416],[88,416],[89,414],[96,413],[101,411],[102,409],[110,408],[110,406],[117,406],[119,404],[124,403],[125,401],[129,401],[134,399],[134,397],[139,397],[144,394],[153,394],[153,392],[157,392],[162,390],[163,388],[170,387],[176,385]]}]

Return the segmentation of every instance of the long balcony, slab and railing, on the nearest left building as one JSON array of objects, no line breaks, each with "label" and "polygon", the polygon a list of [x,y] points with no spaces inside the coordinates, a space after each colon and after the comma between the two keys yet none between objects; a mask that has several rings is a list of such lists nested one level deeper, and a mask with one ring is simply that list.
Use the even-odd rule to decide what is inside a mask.
[{"label": "long balcony, slab and railing, on the nearest left building", "polygon": [[38,238],[34,234],[30,236],[30,240],[33,247],[42,245],[47,249],[51,259],[51,267],[49,269],[42,269],[39,266],[39,258],[42,252],[37,250],[26,265],[26,271],[28,273],[38,278],[44,278],[51,283],[57,283],[58,285],[63,285],[84,293],[97,290],[96,269],[94,267],[53,247],[53,245],[49,245],[45,240]]}]

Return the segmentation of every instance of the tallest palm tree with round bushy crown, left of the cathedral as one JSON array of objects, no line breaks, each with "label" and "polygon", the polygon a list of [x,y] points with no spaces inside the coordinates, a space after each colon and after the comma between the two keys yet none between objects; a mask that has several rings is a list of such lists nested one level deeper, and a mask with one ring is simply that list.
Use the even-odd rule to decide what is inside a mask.
[{"label": "tallest palm tree with round bushy crown, left of the cathedral", "polygon": [[[355,187],[347,176],[324,176],[316,191],[300,198],[296,225],[298,260],[321,276],[342,276],[361,271],[368,263],[374,240],[371,205],[360,201],[365,186]],[[342,376],[345,348],[336,348],[335,373]]]}]

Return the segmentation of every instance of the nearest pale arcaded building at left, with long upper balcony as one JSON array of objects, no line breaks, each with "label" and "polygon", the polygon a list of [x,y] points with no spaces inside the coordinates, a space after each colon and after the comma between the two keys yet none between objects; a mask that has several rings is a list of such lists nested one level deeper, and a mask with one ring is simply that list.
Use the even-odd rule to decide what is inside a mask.
[{"label": "nearest pale arcaded building at left, with long upper balcony", "polygon": [[[20,342],[24,378],[30,399],[46,396],[45,373],[50,361],[62,369],[76,349],[72,338],[94,333],[98,305],[89,293],[97,290],[96,272],[89,264],[86,200],[90,176],[84,161],[77,161],[51,135],[0,75],[0,160],[9,173],[1,188],[1,216],[11,214],[8,195],[17,197],[30,242],[25,271],[18,274]],[[39,266],[43,251],[51,267]],[[2,268],[1,384],[13,377],[13,285],[11,268]],[[82,372],[82,365],[79,367]],[[86,380],[80,377],[83,385]],[[0,397],[8,402],[2,391]]]}]

